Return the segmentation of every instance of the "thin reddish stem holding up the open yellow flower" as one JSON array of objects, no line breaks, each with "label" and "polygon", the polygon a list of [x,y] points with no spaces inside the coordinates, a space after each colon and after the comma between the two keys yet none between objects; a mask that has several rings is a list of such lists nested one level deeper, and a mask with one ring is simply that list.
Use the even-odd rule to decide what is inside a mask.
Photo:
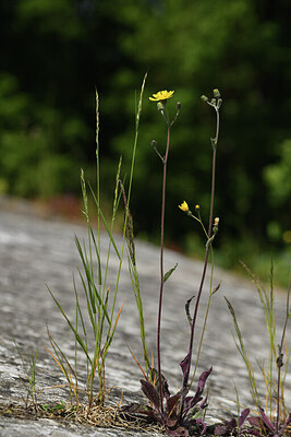
[{"label": "thin reddish stem holding up the open yellow flower", "polygon": [[[165,118],[163,111],[161,113]],[[166,146],[166,154],[162,160],[162,194],[161,194],[161,220],[160,220],[160,291],[159,291],[158,329],[157,329],[158,377],[159,377],[159,395],[160,395],[161,413],[163,413],[163,405],[162,405],[162,387],[161,387],[161,369],[160,369],[160,323],[161,323],[161,306],[162,306],[162,292],[163,292],[163,238],[165,238],[163,233],[165,233],[167,163],[169,156],[170,129],[171,129],[171,125],[168,122],[168,120],[167,125],[168,125],[167,146]]]}]

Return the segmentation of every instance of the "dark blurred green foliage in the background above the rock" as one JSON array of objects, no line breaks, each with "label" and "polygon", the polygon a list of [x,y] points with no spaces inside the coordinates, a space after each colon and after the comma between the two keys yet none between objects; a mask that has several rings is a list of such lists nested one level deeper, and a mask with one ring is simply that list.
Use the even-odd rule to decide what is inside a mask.
[{"label": "dark blurred green foliage in the background above the rock", "polygon": [[94,168],[96,86],[104,191],[111,196],[119,155],[124,168],[131,155],[134,91],[148,71],[136,231],[159,233],[161,166],[150,142],[162,153],[166,125],[147,97],[175,90],[168,108],[174,114],[180,101],[182,110],[171,140],[167,238],[193,246],[196,229],[178,204],[199,203],[207,221],[215,122],[199,96],[218,87],[221,251],[228,264],[245,251],[290,257],[290,9],[288,0],[2,0],[0,191],[80,192],[80,167]]}]

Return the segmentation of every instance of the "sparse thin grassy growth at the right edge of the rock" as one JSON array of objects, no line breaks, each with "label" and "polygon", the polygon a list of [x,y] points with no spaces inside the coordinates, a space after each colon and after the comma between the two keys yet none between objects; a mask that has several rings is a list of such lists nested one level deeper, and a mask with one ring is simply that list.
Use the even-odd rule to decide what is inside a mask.
[{"label": "sparse thin grassy growth at the right edge of the rock", "polygon": [[[234,341],[239,353],[245,364],[248,380],[250,380],[250,391],[253,398],[253,402],[258,410],[257,416],[251,416],[247,418],[251,427],[247,429],[248,434],[264,437],[264,436],[272,436],[279,437],[283,435],[284,430],[291,424],[291,413],[288,413],[286,404],[284,404],[284,382],[288,371],[288,364],[290,357],[290,350],[288,351],[287,342],[286,342],[286,332],[288,320],[291,316],[291,310],[289,306],[290,298],[290,288],[291,281],[289,280],[289,287],[287,292],[287,302],[286,302],[286,316],[283,321],[282,334],[279,344],[277,345],[276,340],[276,324],[275,324],[275,307],[274,307],[274,267],[271,264],[270,269],[270,287],[269,292],[260,284],[260,282],[255,277],[255,275],[250,271],[250,269],[242,263],[243,267],[251,274],[253,282],[256,285],[259,300],[262,303],[266,329],[269,336],[269,356],[268,356],[268,366],[267,368],[263,363],[257,362],[258,368],[262,371],[265,385],[266,385],[266,411],[265,413],[262,401],[258,394],[256,377],[254,373],[253,365],[248,357],[248,354],[245,350],[245,345],[242,338],[242,332],[240,330],[238,319],[235,316],[234,308],[231,303],[226,298],[228,308],[231,312],[233,324],[235,329]],[[291,279],[291,276],[290,276]],[[283,357],[286,355],[286,370],[282,373],[282,367],[284,365]]]}]

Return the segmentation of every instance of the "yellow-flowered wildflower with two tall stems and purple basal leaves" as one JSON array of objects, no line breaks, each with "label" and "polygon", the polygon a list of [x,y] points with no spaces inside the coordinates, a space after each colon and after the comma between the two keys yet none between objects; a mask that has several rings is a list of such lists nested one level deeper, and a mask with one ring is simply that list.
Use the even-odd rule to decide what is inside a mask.
[{"label": "yellow-flowered wildflower with two tall stems and purple basal leaves", "polygon": [[[213,241],[215,236],[218,232],[219,226],[219,217],[214,220],[214,199],[215,199],[215,179],[216,179],[216,154],[217,154],[217,144],[218,144],[218,137],[219,137],[219,109],[222,104],[222,99],[218,90],[214,90],[214,98],[209,102],[206,96],[202,96],[204,102],[207,102],[215,111],[216,111],[216,134],[215,138],[210,139],[211,147],[213,147],[213,172],[211,172],[211,189],[210,189],[210,212],[209,212],[209,225],[208,231],[206,231],[199,212],[199,206],[195,206],[195,214],[189,209],[187,203],[184,201],[179,208],[185,212],[187,215],[192,216],[195,221],[197,221],[203,232],[206,236],[206,252],[205,252],[205,261],[202,272],[201,285],[196,298],[196,304],[194,308],[193,317],[191,317],[190,305],[193,299],[191,297],[187,299],[185,304],[185,311],[190,323],[190,344],[189,351],[184,359],[180,363],[182,374],[183,374],[183,381],[182,388],[175,394],[171,394],[169,390],[169,386],[167,380],[162,376],[161,371],[161,320],[162,320],[162,299],[163,299],[163,287],[166,281],[170,277],[170,275],[175,270],[177,265],[170,269],[168,272],[165,273],[163,269],[163,251],[165,251],[165,210],[166,210],[166,187],[167,187],[167,165],[169,160],[169,152],[170,152],[170,138],[171,138],[171,128],[173,123],[177,121],[180,110],[181,110],[181,103],[177,103],[177,113],[172,120],[170,120],[168,111],[167,111],[167,101],[173,96],[173,91],[160,91],[157,94],[154,94],[153,97],[149,97],[150,101],[157,102],[157,109],[160,113],[163,121],[167,126],[167,142],[165,147],[165,153],[160,153],[157,147],[157,142],[154,140],[151,142],[151,146],[154,151],[157,153],[158,157],[162,164],[162,186],[161,186],[161,218],[160,218],[160,285],[159,285],[159,303],[158,303],[158,321],[157,321],[157,370],[151,368],[149,377],[141,380],[142,390],[146,398],[150,401],[151,406],[148,409],[142,409],[141,406],[136,408],[136,405],[131,404],[129,406],[123,408],[123,413],[134,415],[136,411],[138,414],[144,413],[146,416],[153,416],[158,422],[160,422],[165,428],[167,429],[168,434],[171,436],[180,437],[180,436],[187,436],[190,427],[196,427],[198,433],[206,432],[206,424],[202,420],[203,412],[207,406],[207,397],[203,398],[203,391],[205,388],[205,383],[207,378],[211,374],[213,368],[210,367],[208,370],[205,370],[199,379],[195,390],[194,395],[189,395],[191,386],[193,383],[195,371],[198,364],[198,357],[201,353],[203,336],[206,328],[207,316],[209,311],[210,299],[214,293],[219,288],[219,285],[213,291],[213,270],[211,270],[211,282],[210,282],[210,293],[209,299],[207,305],[207,311],[204,320],[204,328],[203,333],[201,336],[199,347],[196,356],[196,364],[195,370],[193,373],[192,380],[190,382],[190,370],[191,370],[191,362],[193,355],[193,343],[194,343],[194,332],[195,332],[195,323],[198,314],[198,307],[201,302],[201,296],[205,283],[206,271],[208,265],[208,258],[209,252],[211,253],[211,262],[214,267],[214,258],[213,258]],[[133,234],[133,233],[132,233]],[[133,239],[133,237],[132,237]],[[129,250],[130,253],[133,253],[133,250]],[[130,257],[132,258],[132,257]],[[146,376],[146,375],[145,375]]]}]

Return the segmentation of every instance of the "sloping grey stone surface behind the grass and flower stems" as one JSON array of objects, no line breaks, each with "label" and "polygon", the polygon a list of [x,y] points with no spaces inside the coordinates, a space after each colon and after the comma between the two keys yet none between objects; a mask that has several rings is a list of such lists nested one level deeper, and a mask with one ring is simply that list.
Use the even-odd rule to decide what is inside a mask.
[{"label": "sloping grey stone surface behind the grass and flower stems", "polygon": [[[58,340],[68,356],[73,359],[74,341],[65,320],[50,297],[49,285],[71,319],[74,318],[73,273],[77,287],[80,259],[74,245],[74,235],[81,240],[86,238],[85,227],[76,224],[58,223],[35,217],[33,214],[16,214],[0,211],[0,402],[22,402],[25,390],[21,383],[23,376],[21,359],[15,350],[16,340],[25,354],[38,350],[37,388],[44,389],[40,402],[68,399],[65,388],[53,386],[65,383],[58,366],[46,352],[49,346],[47,328]],[[120,247],[120,237],[117,237]],[[102,235],[102,247],[108,239]],[[159,291],[159,251],[156,247],[138,241],[136,244],[140,280],[142,284],[144,311],[149,350],[155,354],[156,319]],[[105,262],[106,259],[104,259]],[[174,391],[181,385],[179,363],[185,356],[189,342],[189,324],[184,304],[193,294],[197,294],[202,263],[167,250],[166,270],[178,262],[178,269],[166,284],[162,314],[162,370]],[[118,259],[111,250],[108,285],[113,291]],[[251,283],[216,269],[216,285],[221,287],[211,302],[208,326],[198,371],[214,366],[209,393],[209,421],[222,416],[222,408],[235,411],[232,380],[235,381],[243,405],[251,404],[246,370],[232,340],[232,320],[223,296],[233,304],[244,334],[245,344],[253,358],[267,359],[268,344],[264,327],[264,314],[257,293]],[[209,290],[209,275],[202,298],[197,322],[197,335],[202,329]],[[129,347],[142,363],[138,316],[131,287],[126,261],[124,262],[118,307],[125,299],[116,338],[107,359],[107,387],[114,387],[109,401],[116,401],[123,394],[124,402],[141,400],[141,371],[135,365]],[[277,320],[279,333],[284,314],[284,295],[276,294]],[[290,329],[289,329],[290,332]],[[80,357],[81,375],[85,378],[85,362]],[[287,376],[287,400],[290,398],[291,375]],[[264,393],[264,383],[259,383]],[[100,429],[81,425],[66,425],[50,420],[20,421],[0,418],[0,436],[146,436],[147,433],[126,432],[124,429]],[[153,435],[153,433],[150,433]]]}]

